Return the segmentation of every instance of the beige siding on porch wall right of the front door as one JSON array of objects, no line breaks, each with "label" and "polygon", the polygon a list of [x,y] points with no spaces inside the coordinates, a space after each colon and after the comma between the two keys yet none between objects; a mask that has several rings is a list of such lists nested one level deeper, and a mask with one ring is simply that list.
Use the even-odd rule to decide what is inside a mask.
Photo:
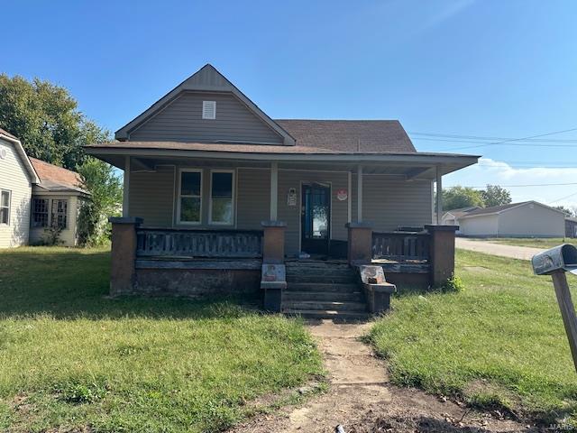
[{"label": "beige siding on porch wall right of the front door", "polygon": [[[362,187],[362,220],[370,222],[374,231],[431,224],[430,181],[407,181],[391,176],[365,175],[362,177]],[[356,182],[354,188],[356,193]],[[354,206],[356,207],[356,199]]]}]

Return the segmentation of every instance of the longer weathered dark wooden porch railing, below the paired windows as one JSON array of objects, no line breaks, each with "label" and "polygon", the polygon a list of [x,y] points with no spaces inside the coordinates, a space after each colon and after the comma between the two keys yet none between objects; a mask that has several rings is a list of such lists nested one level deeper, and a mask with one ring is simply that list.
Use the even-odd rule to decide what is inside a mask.
[{"label": "longer weathered dark wooden porch railing, below the paired windows", "polygon": [[261,230],[139,228],[137,256],[262,257]]}]

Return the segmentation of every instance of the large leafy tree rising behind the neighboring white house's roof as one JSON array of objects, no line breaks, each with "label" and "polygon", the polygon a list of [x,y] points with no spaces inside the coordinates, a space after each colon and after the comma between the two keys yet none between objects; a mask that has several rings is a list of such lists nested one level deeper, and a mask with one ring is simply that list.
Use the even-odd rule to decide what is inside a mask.
[{"label": "large leafy tree rising behind the neighboring white house's roof", "polygon": [[109,139],[78,111],[66,88],[6,74],[0,75],[0,127],[18,137],[29,156],[69,170],[85,161],[82,146]]}]

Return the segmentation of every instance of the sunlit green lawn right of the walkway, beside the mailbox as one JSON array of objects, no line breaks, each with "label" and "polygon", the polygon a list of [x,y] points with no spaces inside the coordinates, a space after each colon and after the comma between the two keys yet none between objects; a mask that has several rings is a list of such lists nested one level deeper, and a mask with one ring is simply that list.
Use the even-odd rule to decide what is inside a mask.
[{"label": "sunlit green lawn right of the walkway, beside the mailbox", "polygon": [[536,419],[574,417],[577,374],[550,277],[463,250],[455,273],[464,292],[400,294],[372,328],[392,381]]}]

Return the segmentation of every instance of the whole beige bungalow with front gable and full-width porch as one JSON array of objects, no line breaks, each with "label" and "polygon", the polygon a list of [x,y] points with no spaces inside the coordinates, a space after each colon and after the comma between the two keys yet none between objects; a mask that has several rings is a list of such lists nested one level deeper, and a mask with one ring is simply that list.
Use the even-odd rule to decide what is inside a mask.
[{"label": "whole beige bungalow with front gable and full-width porch", "polygon": [[453,261],[450,242],[430,241],[434,182],[478,160],[417,152],[397,120],[272,119],[211,65],[115,138],[87,147],[124,170],[112,293],[252,291],[261,278],[284,283],[286,270],[279,309],[289,312],[325,311],[319,299],[363,309],[346,291],[348,263],[374,258],[388,280],[434,281],[433,250],[437,264]]}]

